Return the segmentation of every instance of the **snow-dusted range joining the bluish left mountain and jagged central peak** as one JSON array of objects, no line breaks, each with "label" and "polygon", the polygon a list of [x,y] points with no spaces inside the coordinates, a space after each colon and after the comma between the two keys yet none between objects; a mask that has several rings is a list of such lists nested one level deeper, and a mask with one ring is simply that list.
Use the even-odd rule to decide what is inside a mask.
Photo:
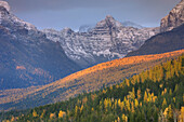
[{"label": "snow-dusted range joining the bluish left mountain and jagged central peak", "polygon": [[0,1],[0,90],[48,84],[81,68],[123,57],[158,30],[123,27],[107,16],[90,32],[40,31]]}]

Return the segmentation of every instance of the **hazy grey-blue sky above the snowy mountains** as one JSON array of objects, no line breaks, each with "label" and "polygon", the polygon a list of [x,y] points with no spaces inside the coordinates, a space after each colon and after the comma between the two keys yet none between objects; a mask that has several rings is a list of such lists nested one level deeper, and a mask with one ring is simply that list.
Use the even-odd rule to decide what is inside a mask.
[{"label": "hazy grey-blue sky above the snowy mountains", "polygon": [[78,29],[106,15],[142,26],[159,26],[160,19],[181,0],[5,0],[19,18],[39,29]]}]

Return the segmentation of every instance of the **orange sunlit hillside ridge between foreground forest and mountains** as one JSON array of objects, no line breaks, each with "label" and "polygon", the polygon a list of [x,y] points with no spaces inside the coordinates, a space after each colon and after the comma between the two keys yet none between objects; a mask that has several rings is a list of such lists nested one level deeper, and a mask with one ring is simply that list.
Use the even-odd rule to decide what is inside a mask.
[{"label": "orange sunlit hillside ridge between foreground forest and mountains", "polygon": [[184,53],[184,50],[165,54],[124,57],[84,69],[48,85],[0,91],[0,104],[3,109],[8,110],[65,100],[82,92],[93,92],[104,86],[120,83],[126,78],[174,58],[182,53]]}]

